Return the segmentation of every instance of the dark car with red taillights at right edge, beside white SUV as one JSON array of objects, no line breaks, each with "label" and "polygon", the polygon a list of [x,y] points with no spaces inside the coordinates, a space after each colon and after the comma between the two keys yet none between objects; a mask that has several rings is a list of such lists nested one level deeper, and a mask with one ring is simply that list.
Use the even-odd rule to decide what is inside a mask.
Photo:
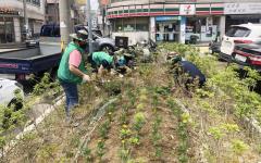
[{"label": "dark car with red taillights at right edge, beside white SUV", "polygon": [[261,72],[261,41],[250,45],[237,45],[232,53],[232,61]]}]

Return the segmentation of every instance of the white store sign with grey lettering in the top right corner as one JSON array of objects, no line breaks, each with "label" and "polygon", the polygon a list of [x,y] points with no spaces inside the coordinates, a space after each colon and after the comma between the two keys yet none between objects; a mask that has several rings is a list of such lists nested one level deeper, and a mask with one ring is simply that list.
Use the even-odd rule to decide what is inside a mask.
[{"label": "white store sign with grey lettering in the top right corner", "polygon": [[224,14],[260,14],[261,3],[225,3]]}]

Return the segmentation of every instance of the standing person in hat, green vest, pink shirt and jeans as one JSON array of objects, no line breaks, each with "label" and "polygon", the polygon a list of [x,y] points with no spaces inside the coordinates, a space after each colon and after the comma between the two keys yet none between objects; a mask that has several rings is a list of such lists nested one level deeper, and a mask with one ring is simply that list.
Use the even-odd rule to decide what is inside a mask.
[{"label": "standing person in hat, green vest, pink shirt and jeans", "polygon": [[65,112],[69,121],[70,111],[78,104],[77,85],[90,80],[90,77],[86,74],[83,59],[84,47],[87,43],[87,33],[78,30],[70,36],[73,41],[64,50],[58,68],[58,78],[66,96]]}]

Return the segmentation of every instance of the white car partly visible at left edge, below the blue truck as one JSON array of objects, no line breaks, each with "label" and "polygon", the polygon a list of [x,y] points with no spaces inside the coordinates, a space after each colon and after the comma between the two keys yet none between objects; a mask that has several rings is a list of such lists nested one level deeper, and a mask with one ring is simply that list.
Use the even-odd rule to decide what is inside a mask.
[{"label": "white car partly visible at left edge, below the blue truck", "polygon": [[18,110],[23,106],[21,102],[17,102],[18,92],[24,99],[23,86],[16,80],[0,78],[0,105],[10,106],[15,104],[15,110]]}]

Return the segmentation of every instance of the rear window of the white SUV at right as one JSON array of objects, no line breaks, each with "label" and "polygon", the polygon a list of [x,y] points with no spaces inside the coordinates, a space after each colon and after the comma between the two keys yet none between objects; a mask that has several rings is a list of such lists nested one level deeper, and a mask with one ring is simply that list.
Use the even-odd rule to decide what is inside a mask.
[{"label": "rear window of the white SUV at right", "polygon": [[247,37],[250,34],[250,29],[246,27],[233,26],[226,32],[228,37]]}]

